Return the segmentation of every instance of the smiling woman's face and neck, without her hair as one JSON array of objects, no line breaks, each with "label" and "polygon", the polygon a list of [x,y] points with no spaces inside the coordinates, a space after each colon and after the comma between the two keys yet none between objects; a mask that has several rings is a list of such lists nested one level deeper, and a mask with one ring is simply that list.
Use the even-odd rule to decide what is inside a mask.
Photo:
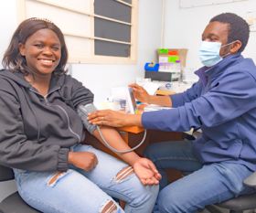
[{"label": "smiling woman's face and neck, without her hair", "polygon": [[25,79],[42,95],[48,94],[52,72],[58,67],[61,56],[59,37],[51,29],[40,29],[19,44],[19,52],[27,61],[29,74]]}]

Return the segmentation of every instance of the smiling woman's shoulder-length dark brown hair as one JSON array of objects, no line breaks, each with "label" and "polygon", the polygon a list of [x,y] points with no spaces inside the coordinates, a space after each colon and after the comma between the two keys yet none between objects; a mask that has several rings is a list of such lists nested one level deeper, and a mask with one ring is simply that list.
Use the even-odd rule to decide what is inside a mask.
[{"label": "smiling woman's shoulder-length dark brown hair", "polygon": [[54,23],[50,22],[48,19],[32,17],[20,23],[16,28],[16,31],[11,39],[9,47],[5,51],[5,55],[2,64],[5,69],[11,69],[16,72],[22,72],[24,74],[29,73],[27,67],[27,62],[24,56],[19,52],[19,44],[25,44],[27,38],[32,36],[40,29],[51,29],[59,37],[61,45],[61,58],[59,60],[59,65],[55,69],[54,73],[62,74],[65,73],[65,66],[68,60],[68,49],[65,43],[64,36]]}]

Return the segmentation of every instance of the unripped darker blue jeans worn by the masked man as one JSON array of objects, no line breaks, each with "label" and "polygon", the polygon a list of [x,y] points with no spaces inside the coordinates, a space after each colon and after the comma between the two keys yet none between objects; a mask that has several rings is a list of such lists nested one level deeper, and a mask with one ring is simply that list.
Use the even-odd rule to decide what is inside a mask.
[{"label": "unripped darker blue jeans worn by the masked man", "polygon": [[[155,213],[196,212],[207,205],[254,191],[242,183],[252,173],[246,166],[228,161],[202,165],[192,153],[190,141],[152,144],[145,156],[163,176]],[[175,168],[188,175],[167,185],[165,168]]]}]

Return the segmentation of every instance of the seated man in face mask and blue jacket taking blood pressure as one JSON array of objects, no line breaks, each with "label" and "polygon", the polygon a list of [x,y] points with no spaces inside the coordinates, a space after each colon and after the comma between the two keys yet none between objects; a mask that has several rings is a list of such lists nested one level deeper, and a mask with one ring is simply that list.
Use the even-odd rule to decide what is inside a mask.
[{"label": "seated man in face mask and blue jacket taking blood pressure", "polygon": [[[89,116],[92,123],[111,126],[202,130],[195,141],[156,143],[147,148],[145,155],[163,176],[155,213],[195,212],[252,192],[242,184],[256,170],[256,67],[241,56],[249,32],[240,16],[213,17],[202,34],[199,58],[204,66],[196,71],[199,80],[183,93],[151,96],[131,85],[139,101],[173,109],[142,115],[101,111]],[[188,175],[167,185],[165,168]]]}]

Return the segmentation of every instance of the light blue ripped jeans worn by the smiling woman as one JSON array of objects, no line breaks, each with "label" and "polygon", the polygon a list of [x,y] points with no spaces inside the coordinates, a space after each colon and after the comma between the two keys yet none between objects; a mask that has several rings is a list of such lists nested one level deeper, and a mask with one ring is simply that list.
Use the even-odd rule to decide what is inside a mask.
[{"label": "light blue ripped jeans worn by the smiling woman", "polygon": [[[143,186],[134,173],[117,180],[128,165],[90,145],[72,148],[96,154],[98,165],[90,172],[72,167],[54,181],[57,172],[14,169],[17,190],[27,204],[44,213],[96,213],[112,200],[117,210],[111,212],[152,212],[158,186]],[[112,197],[126,202],[124,211]]]}]

